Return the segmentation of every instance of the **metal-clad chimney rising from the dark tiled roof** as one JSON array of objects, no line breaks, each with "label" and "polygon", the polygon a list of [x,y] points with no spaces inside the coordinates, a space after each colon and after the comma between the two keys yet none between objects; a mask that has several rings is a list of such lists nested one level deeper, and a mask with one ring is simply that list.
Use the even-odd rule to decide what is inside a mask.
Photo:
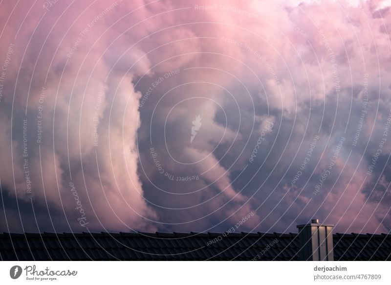
[{"label": "metal-clad chimney rising from the dark tiled roof", "polygon": [[310,224],[298,225],[300,261],[334,261],[334,225],[320,224],[318,219]]}]

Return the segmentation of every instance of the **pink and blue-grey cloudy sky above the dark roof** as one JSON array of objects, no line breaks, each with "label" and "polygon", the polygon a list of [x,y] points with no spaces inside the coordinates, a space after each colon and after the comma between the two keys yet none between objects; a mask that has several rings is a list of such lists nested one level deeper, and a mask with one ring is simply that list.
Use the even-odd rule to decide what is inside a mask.
[{"label": "pink and blue-grey cloudy sky above the dark roof", "polygon": [[390,1],[0,1],[0,231],[391,229]]}]

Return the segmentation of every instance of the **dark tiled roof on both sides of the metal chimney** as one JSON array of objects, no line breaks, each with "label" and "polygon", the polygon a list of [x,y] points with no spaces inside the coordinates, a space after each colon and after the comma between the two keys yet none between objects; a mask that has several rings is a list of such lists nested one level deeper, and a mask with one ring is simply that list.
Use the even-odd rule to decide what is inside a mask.
[{"label": "dark tiled roof on both sides of the metal chimney", "polygon": [[[2,261],[296,261],[297,234],[0,234]],[[391,235],[334,234],[334,260],[390,261]]]}]

